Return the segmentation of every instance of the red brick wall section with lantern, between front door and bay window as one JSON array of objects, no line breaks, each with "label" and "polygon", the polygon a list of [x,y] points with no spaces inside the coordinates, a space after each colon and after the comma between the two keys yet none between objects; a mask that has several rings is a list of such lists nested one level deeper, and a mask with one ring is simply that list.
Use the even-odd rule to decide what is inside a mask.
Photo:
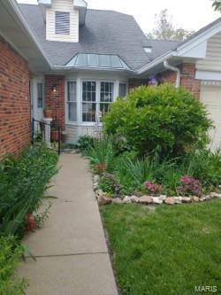
[{"label": "red brick wall section with lantern, between front door and bay window", "polygon": [[[57,91],[51,87],[57,85]],[[59,122],[59,127],[65,129],[65,77],[61,75],[45,76],[45,105],[52,109],[52,119]]]}]

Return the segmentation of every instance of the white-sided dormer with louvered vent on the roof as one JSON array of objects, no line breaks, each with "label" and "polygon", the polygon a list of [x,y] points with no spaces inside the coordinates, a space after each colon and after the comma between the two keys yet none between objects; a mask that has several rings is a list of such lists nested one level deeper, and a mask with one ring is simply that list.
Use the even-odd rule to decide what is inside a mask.
[{"label": "white-sided dormer with louvered vent on the roof", "polygon": [[84,26],[87,3],[83,0],[38,0],[46,22],[46,40],[79,42],[79,27]]}]

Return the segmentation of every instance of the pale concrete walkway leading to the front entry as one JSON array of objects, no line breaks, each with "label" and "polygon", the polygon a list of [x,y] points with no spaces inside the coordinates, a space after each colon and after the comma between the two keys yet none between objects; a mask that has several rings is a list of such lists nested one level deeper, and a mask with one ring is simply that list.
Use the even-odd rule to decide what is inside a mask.
[{"label": "pale concrete walkway leading to the front entry", "polygon": [[117,295],[88,163],[62,154],[59,165],[50,218],[24,241],[37,260],[28,258],[19,269],[29,280],[27,294]]}]

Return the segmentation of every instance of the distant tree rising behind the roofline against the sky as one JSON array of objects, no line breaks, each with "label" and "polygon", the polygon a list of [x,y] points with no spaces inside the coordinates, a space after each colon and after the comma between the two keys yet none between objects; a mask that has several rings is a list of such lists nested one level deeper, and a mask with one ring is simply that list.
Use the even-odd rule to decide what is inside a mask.
[{"label": "distant tree rising behind the roofline against the sky", "polygon": [[193,31],[188,31],[182,27],[174,27],[167,9],[156,15],[156,28],[147,34],[149,39],[183,41],[192,35]]}]

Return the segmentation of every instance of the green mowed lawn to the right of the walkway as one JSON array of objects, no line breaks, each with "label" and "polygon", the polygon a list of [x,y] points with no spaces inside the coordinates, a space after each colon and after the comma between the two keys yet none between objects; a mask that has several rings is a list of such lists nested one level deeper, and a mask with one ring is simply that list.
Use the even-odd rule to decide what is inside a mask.
[{"label": "green mowed lawn to the right of the walkway", "polygon": [[221,294],[221,200],[101,212],[122,294],[191,295],[194,286],[217,286]]}]

